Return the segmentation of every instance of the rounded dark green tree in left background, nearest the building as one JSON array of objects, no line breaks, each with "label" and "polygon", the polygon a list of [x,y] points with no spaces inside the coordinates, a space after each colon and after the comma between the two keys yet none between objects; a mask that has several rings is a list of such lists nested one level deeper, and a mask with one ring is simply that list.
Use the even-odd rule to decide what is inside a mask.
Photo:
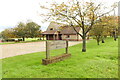
[{"label": "rounded dark green tree in left background, nearest the building", "polygon": [[40,26],[38,24],[36,24],[35,22],[28,22],[26,24],[26,29],[27,29],[27,36],[28,37],[37,37],[38,35],[40,35]]}]

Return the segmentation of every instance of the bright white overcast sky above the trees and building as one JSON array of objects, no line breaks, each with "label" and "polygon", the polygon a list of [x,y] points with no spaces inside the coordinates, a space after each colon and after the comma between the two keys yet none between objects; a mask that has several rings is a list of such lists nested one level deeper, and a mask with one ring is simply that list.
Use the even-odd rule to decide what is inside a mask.
[{"label": "bright white overcast sky above the trees and building", "polygon": [[[58,3],[66,0],[0,0],[0,31],[6,28],[15,27],[18,22],[26,22],[32,20],[42,26],[42,30],[46,30],[49,22],[42,23],[43,18],[39,13],[45,12],[40,9],[40,4],[47,6],[46,2]],[[89,0],[86,0],[89,1]],[[95,0],[96,2],[104,2],[106,6],[110,6],[119,0]],[[116,14],[117,14],[116,10]]]}]

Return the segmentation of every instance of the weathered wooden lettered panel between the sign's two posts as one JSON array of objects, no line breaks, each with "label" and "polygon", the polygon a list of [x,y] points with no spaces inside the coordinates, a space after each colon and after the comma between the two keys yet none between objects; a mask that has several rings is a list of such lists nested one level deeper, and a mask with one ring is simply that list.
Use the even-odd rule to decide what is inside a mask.
[{"label": "weathered wooden lettered panel between the sign's two posts", "polygon": [[66,48],[66,41],[47,41],[49,50]]}]

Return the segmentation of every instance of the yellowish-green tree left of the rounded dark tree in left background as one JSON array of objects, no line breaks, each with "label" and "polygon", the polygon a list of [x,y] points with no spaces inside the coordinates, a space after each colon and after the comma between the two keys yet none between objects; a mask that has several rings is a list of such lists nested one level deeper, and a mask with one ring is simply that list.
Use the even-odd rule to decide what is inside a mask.
[{"label": "yellowish-green tree left of the rounded dark tree in left background", "polygon": [[14,34],[17,37],[23,38],[23,41],[25,41],[25,37],[27,37],[26,24],[20,22],[18,26],[14,28]]}]

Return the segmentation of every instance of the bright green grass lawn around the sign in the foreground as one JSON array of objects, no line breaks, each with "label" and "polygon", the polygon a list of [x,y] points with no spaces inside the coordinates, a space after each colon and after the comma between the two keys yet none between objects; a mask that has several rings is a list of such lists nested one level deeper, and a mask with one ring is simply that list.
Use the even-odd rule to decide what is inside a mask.
[{"label": "bright green grass lawn around the sign in the foreground", "polygon": [[[71,58],[49,65],[42,65],[45,52],[20,55],[2,60],[3,78],[118,78],[118,41],[106,39],[96,45],[87,43],[87,52],[81,52],[81,44],[69,48]],[[53,55],[64,49],[51,51]]]}]

